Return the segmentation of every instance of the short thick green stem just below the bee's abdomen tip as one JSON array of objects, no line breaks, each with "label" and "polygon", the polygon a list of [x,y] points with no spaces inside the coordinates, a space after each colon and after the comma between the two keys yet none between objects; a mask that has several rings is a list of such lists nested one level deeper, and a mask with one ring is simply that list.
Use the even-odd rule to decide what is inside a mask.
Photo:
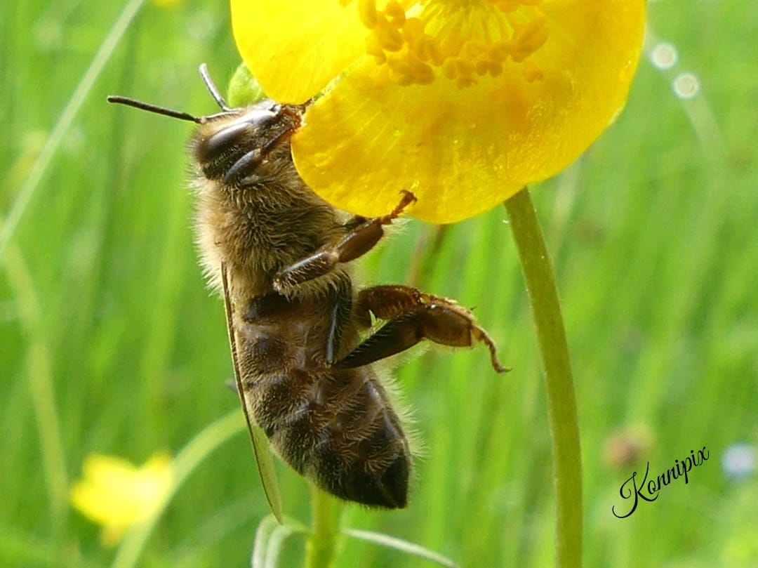
[{"label": "short thick green stem just below the bee's abdomen tip", "polygon": [[329,568],[334,562],[343,504],[311,485],[313,526],[305,548],[306,568]]}]

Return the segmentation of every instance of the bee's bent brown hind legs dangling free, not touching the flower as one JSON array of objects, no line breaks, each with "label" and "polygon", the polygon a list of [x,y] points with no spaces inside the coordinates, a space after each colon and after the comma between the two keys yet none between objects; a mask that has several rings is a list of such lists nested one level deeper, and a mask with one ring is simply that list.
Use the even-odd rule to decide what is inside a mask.
[{"label": "bee's bent brown hind legs dangling free, not touching the flower", "polygon": [[375,286],[361,290],[356,302],[357,319],[368,318],[368,312],[387,323],[334,366],[349,369],[368,365],[428,339],[453,347],[483,343],[490,350],[493,368],[497,372],[508,370],[497,359],[495,344],[487,331],[477,325],[468,309],[453,300],[407,286]]}]

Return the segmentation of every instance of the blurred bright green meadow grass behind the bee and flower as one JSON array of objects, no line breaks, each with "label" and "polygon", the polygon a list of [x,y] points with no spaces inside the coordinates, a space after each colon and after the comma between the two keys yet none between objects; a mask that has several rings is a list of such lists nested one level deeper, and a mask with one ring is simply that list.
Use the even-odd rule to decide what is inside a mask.
[{"label": "blurred bright green meadow grass behind the bee and flower", "polygon": [[[2,224],[23,209],[0,259],[2,566],[109,565],[114,550],[68,501],[86,456],[175,454],[238,408],[224,388],[223,306],[190,234],[191,127],[105,103],[117,93],[214,111],[196,69],[207,62],[224,84],[238,64],[228,8],[146,3],[99,60],[122,9],[11,0],[0,17]],[[722,457],[758,438],[758,3],[661,0],[649,21],[625,113],[533,190],[575,369],[585,565],[756,566],[758,481]],[[366,283],[415,282],[476,306],[513,371],[495,375],[483,350],[428,350],[402,366],[425,446],[410,506],[349,507],[345,526],[463,566],[551,566],[545,394],[503,209],[444,231],[411,221],[363,267]],[[239,421],[136,565],[249,565],[268,510]],[[619,488],[631,472],[649,460],[657,475],[703,446],[710,459],[687,485],[612,515],[628,510]],[[284,467],[280,482],[287,514],[307,525],[305,482]],[[301,558],[293,538],[283,565]],[[337,562],[420,565],[352,539]]]}]

